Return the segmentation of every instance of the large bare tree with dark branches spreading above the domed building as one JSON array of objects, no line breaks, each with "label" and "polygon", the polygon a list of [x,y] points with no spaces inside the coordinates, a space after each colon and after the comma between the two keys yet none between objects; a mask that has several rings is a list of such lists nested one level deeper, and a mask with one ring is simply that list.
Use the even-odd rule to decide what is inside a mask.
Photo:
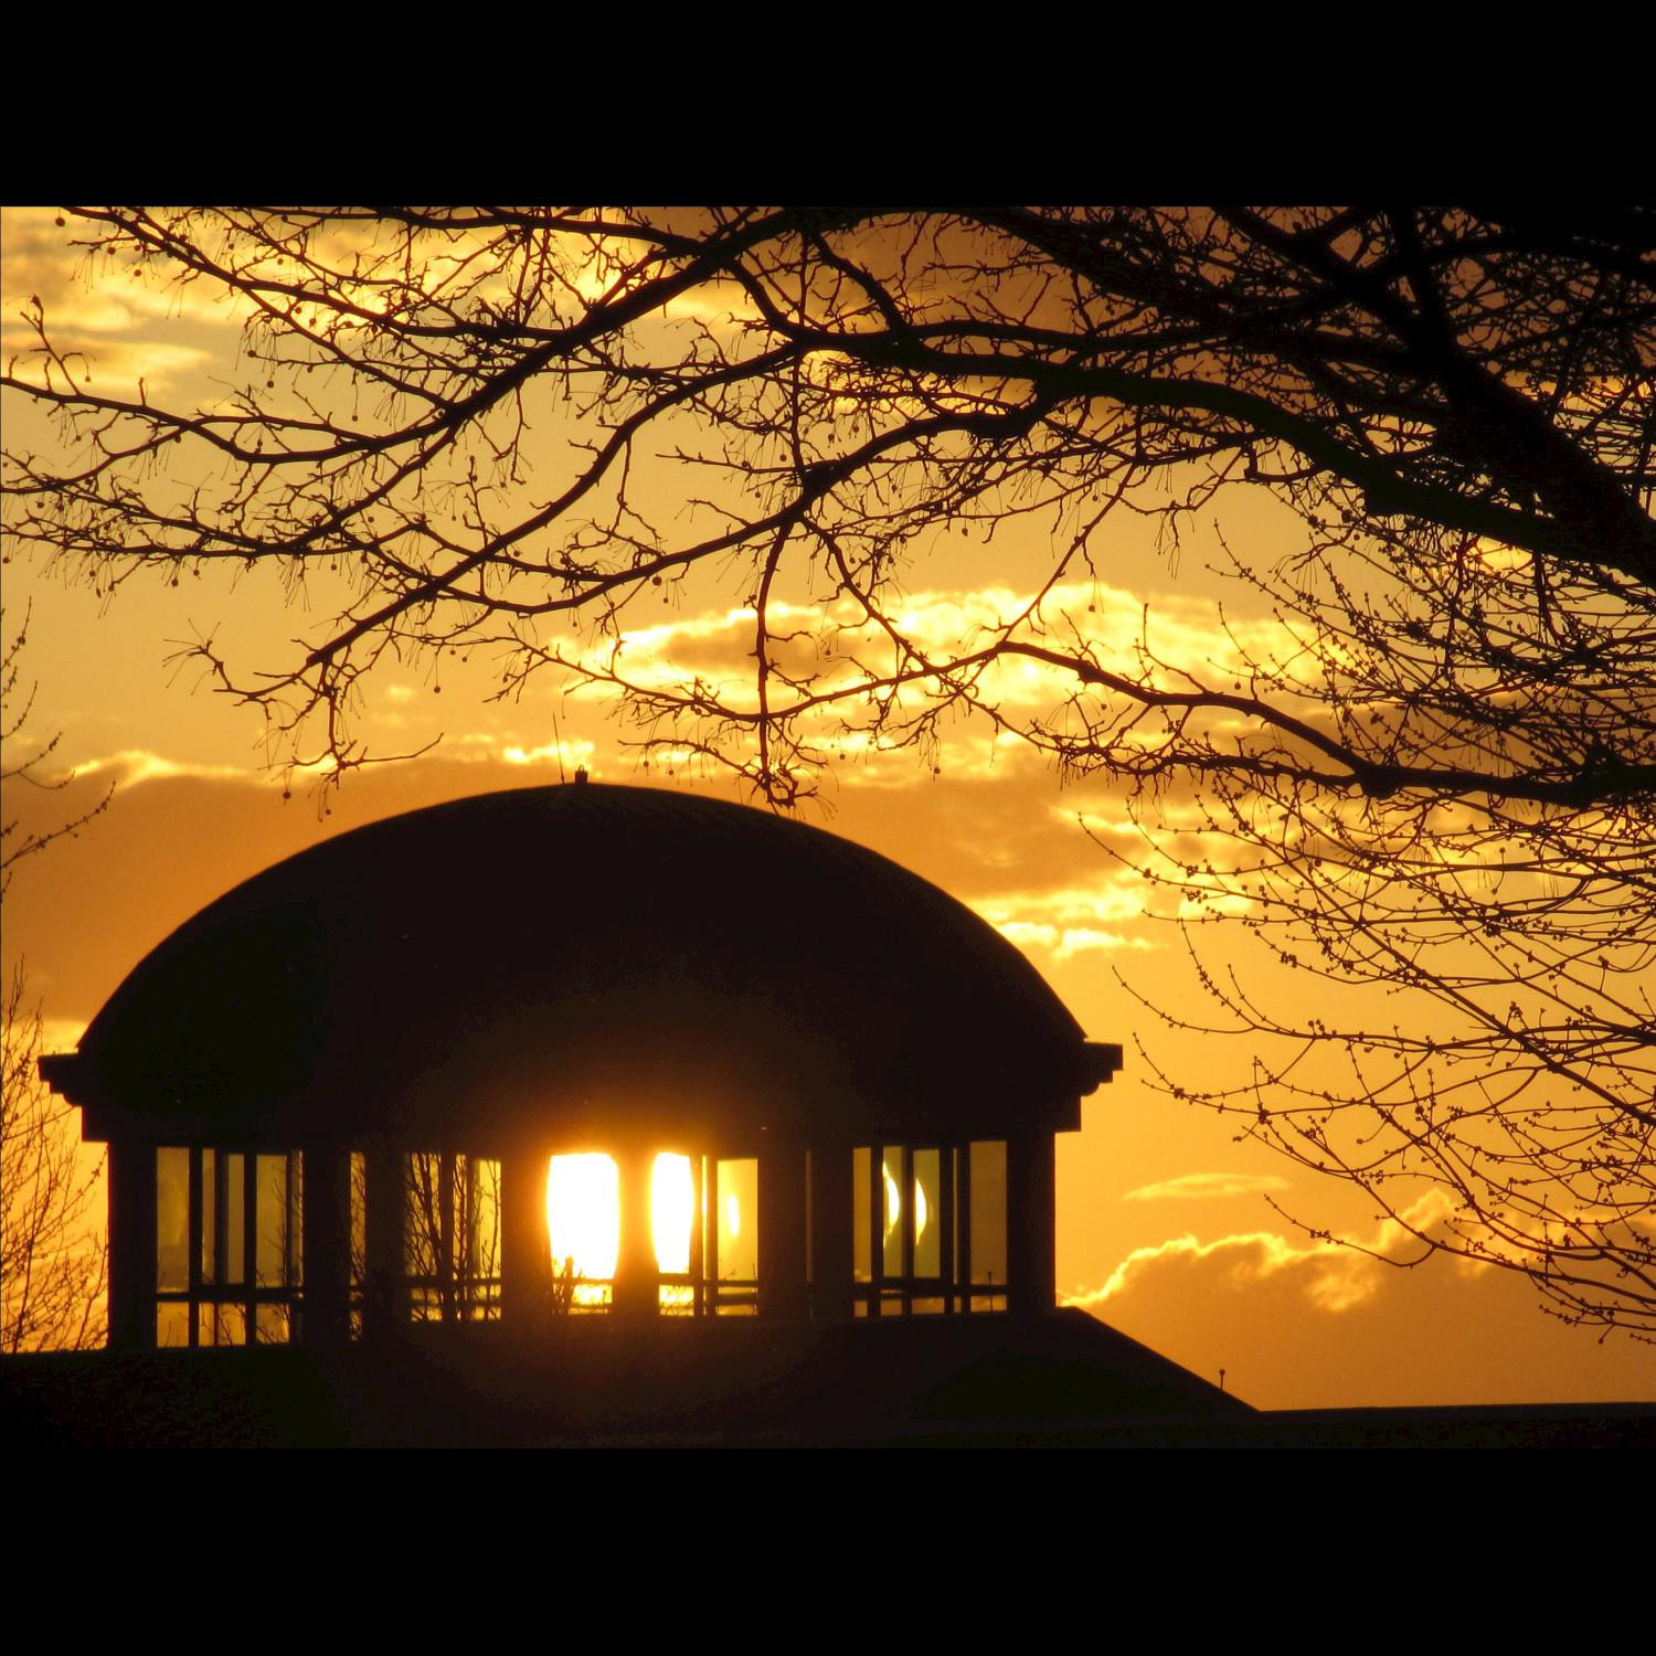
[{"label": "large bare tree with dark branches spreading above the domed building", "polygon": [[[507,696],[618,689],[646,747],[783,806],[845,753],[931,760],[984,717],[1119,778],[1141,840],[1105,843],[1151,889],[1383,992],[1340,1027],[1290,1015],[1201,944],[1217,1015],[1182,1022],[1245,1035],[1254,1073],[1166,1085],[1562,1315],[1656,1333],[1656,215],[75,224],[93,268],[238,305],[242,379],[214,407],[104,394],[36,306],[5,384],[70,459],[8,454],[10,527],[103,593],[277,566],[323,618],[296,654],[197,654],[291,757],[368,762],[363,676],[450,651],[498,657]],[[1153,618],[1090,626],[1119,515],[1176,545],[1232,485],[1298,517],[1229,566],[1268,624],[1201,659]],[[1052,545],[1025,591],[949,636],[909,623],[946,535],[1025,527]],[[747,608],[740,682],[621,646],[696,583]]]}]

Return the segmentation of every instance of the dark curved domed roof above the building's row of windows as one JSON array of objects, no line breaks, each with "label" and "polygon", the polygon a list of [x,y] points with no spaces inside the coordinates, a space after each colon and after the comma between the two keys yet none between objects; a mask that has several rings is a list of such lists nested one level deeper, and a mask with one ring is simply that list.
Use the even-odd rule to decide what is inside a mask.
[{"label": "dark curved domed roof above the building's row of windows", "polygon": [[1116,1048],[936,886],[651,788],[522,788],[328,840],[209,904],[43,1066],[89,1136],[1078,1124]]}]

